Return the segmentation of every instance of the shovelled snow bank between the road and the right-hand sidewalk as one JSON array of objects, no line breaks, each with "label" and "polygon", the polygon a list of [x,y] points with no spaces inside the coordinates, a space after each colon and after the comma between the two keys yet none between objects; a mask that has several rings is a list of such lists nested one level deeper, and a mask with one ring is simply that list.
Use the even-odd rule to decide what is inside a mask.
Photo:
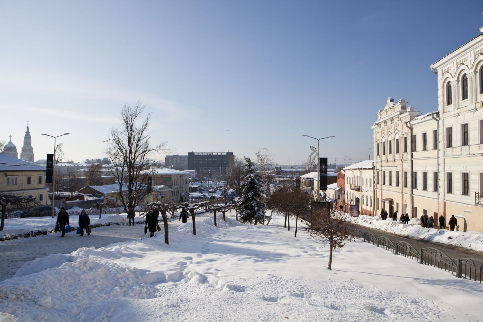
[{"label": "shovelled snow bank between the road and the right-hand sidewalk", "polygon": [[423,228],[421,227],[419,218],[412,218],[409,224],[403,224],[390,218],[382,220],[380,216],[370,217],[361,215],[359,216],[358,224],[403,237],[433,241],[483,252],[483,233]]}]

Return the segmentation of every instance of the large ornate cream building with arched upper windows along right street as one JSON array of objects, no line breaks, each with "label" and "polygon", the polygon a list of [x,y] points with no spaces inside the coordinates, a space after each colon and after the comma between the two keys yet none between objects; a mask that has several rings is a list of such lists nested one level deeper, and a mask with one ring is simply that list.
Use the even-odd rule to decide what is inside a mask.
[{"label": "large ornate cream building with arched upper windows along right street", "polygon": [[[483,32],[483,28],[480,29]],[[417,116],[390,98],[372,126],[376,211],[451,215],[483,231],[483,34],[431,65],[438,111]]]}]

